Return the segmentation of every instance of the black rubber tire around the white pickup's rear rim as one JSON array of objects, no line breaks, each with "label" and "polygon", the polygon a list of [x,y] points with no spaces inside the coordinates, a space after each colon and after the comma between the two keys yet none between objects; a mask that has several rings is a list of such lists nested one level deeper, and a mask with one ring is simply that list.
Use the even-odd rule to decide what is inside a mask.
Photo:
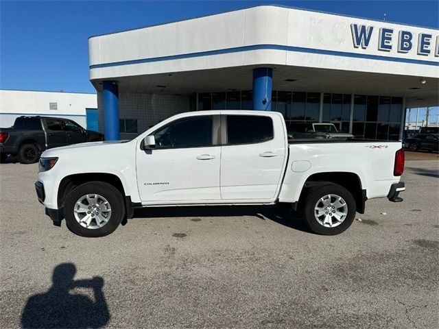
[{"label": "black rubber tire around the white pickup's rear rim", "polygon": [[[333,228],[323,226],[319,223],[315,214],[315,207],[318,201],[325,195],[338,195],[344,199],[347,206],[347,215],[338,226]],[[302,215],[305,220],[307,227],[317,233],[322,235],[336,235],[346,231],[349,226],[353,223],[355,219],[355,213],[357,212],[355,199],[352,194],[346,190],[343,186],[337,184],[324,184],[323,186],[315,186],[308,188],[304,191],[302,199]],[[323,215],[324,216],[324,215]],[[334,218],[333,218],[334,219]],[[336,223],[337,221],[335,221]]]}]

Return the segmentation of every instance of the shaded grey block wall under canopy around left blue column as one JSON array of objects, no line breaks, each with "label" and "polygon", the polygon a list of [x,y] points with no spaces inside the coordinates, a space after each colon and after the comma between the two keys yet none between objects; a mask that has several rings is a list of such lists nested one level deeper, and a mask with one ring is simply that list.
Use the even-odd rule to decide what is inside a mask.
[{"label": "shaded grey block wall under canopy around left blue column", "polygon": [[[104,133],[104,103],[97,93],[99,132]],[[189,111],[189,97],[141,93],[119,93],[119,119],[137,119],[137,134],[124,134],[120,139],[132,139],[174,114]]]}]

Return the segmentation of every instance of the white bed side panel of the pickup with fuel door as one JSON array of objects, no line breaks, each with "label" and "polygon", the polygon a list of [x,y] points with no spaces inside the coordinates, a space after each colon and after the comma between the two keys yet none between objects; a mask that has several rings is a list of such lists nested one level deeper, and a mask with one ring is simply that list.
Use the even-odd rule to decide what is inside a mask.
[{"label": "white bed side panel of the pickup with fuel door", "polygon": [[[355,173],[368,199],[385,197],[399,182],[393,175],[395,153],[400,142],[293,143],[279,195],[280,202],[297,202],[306,180],[315,173]],[[307,165],[304,165],[304,163]]]}]

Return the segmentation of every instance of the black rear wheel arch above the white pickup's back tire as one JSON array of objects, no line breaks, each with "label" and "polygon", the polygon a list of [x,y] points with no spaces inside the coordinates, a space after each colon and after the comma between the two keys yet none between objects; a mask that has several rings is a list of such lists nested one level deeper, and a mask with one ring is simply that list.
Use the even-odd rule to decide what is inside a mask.
[{"label": "black rear wheel arch above the white pickup's back tire", "polygon": [[333,183],[343,186],[348,190],[355,199],[357,212],[364,214],[364,204],[366,202],[366,189],[363,189],[361,179],[357,173],[348,171],[329,171],[323,173],[313,173],[310,175],[302,186],[300,199],[304,195],[304,191],[312,186],[321,186],[325,183]]}]

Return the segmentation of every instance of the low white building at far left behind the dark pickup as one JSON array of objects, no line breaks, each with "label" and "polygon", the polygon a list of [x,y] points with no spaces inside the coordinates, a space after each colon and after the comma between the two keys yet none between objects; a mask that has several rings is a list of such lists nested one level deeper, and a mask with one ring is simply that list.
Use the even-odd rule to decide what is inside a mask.
[{"label": "low white building at far left behind the dark pickup", "polygon": [[[50,110],[56,103],[57,110]],[[97,108],[95,94],[0,90],[0,127],[10,127],[21,115],[71,119],[86,127],[86,108]]]}]

